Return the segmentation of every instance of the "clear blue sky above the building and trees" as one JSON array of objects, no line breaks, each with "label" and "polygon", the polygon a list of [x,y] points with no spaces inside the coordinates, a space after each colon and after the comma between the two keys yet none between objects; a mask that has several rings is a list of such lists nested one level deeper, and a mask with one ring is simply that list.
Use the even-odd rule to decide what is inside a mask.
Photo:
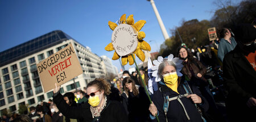
[{"label": "clear blue sky above the building and trees", "polygon": [[[155,0],[155,5],[169,36],[169,30],[180,26],[181,20],[210,20],[214,14],[210,11],[216,10],[213,0]],[[146,0],[2,0],[0,52],[53,30],[61,30],[82,45],[90,47],[98,56],[112,58],[113,51],[104,49],[110,43],[113,32],[108,21],[115,22],[123,14],[126,17],[133,14],[135,22],[146,20],[141,30],[146,33],[144,40],[151,45],[151,52],[159,51],[164,37],[154,10]],[[113,64],[118,70],[121,69],[118,60],[113,61]],[[125,66],[126,69],[129,67]]]}]

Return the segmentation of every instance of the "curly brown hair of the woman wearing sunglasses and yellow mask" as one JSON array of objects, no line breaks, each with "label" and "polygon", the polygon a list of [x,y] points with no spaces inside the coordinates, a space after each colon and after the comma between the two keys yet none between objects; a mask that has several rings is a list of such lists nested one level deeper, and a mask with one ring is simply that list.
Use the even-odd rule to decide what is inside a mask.
[{"label": "curly brown hair of the woman wearing sunglasses and yellow mask", "polygon": [[104,91],[105,95],[109,95],[111,93],[111,85],[103,78],[95,78],[93,81],[89,82],[87,88],[90,86],[95,86],[99,91]]}]

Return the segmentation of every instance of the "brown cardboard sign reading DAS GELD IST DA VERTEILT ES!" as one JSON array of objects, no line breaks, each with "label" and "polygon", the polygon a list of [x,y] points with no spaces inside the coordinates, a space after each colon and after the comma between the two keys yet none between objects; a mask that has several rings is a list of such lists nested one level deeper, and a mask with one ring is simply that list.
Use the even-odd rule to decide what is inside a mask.
[{"label": "brown cardboard sign reading DAS GELD IST DA VERTEILT ES!", "polygon": [[80,62],[72,44],[36,64],[44,92],[68,82],[82,73]]}]

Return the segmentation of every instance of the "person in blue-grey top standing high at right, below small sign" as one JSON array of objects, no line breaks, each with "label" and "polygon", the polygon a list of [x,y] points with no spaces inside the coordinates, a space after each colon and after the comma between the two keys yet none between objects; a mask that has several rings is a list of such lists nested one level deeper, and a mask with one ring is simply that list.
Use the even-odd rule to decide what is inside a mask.
[{"label": "person in blue-grey top standing high at right, below small sign", "polygon": [[232,51],[237,42],[234,37],[231,36],[230,30],[228,28],[222,28],[219,32],[220,35],[220,44],[218,44],[218,58],[220,58],[221,62],[223,62],[223,58],[226,53]]}]

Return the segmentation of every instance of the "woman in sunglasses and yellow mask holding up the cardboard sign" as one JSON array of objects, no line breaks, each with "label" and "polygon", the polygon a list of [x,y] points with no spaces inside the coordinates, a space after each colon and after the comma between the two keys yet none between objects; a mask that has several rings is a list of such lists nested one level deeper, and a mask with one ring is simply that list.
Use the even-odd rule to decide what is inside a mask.
[{"label": "woman in sunglasses and yellow mask holding up the cardboard sign", "polygon": [[63,113],[72,119],[85,121],[129,121],[121,103],[109,100],[110,84],[102,78],[89,82],[86,88],[88,102],[79,107],[69,107],[60,94],[60,86],[55,83],[53,101]]}]

